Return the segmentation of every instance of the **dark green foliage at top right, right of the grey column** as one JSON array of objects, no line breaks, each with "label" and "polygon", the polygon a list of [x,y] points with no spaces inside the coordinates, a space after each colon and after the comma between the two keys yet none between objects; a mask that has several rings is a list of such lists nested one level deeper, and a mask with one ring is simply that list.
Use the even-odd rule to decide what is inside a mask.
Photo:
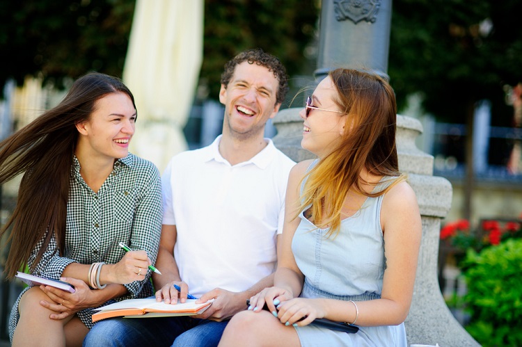
[{"label": "dark green foliage at top right, right of the grey column", "polygon": [[520,13],[519,0],[394,0],[388,74],[400,107],[422,92],[426,111],[465,123],[470,104],[490,99],[505,112],[493,122],[509,126],[512,110],[498,105],[522,81]]}]

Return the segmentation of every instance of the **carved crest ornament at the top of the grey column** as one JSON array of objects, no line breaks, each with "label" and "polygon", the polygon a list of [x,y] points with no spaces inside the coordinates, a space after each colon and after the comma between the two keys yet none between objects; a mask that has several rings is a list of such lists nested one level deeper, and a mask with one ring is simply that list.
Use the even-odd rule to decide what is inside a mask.
[{"label": "carved crest ornament at the top of the grey column", "polygon": [[335,0],[333,2],[335,19],[338,21],[350,19],[355,24],[361,20],[374,23],[381,7],[381,0]]}]

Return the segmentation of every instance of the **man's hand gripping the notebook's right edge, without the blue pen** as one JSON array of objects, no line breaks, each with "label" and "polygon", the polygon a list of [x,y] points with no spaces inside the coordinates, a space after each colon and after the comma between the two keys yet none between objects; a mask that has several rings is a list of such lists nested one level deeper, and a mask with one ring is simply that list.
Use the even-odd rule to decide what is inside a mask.
[{"label": "man's hand gripping the notebook's right edge, without the blue pen", "polygon": [[205,309],[205,312],[194,318],[211,319],[212,321],[224,321],[237,312],[246,309],[246,299],[248,296],[244,293],[232,293],[225,289],[216,288],[208,293],[203,294],[196,302],[207,302],[214,299],[212,305]]}]

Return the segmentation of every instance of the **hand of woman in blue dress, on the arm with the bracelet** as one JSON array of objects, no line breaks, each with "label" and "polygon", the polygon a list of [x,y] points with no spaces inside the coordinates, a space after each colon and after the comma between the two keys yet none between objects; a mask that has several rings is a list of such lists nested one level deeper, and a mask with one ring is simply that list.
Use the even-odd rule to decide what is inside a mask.
[{"label": "hand of woman in blue dress, on the arm with the bracelet", "polygon": [[315,318],[324,318],[320,299],[294,298],[278,305],[277,317],[285,325],[308,325]]}]

